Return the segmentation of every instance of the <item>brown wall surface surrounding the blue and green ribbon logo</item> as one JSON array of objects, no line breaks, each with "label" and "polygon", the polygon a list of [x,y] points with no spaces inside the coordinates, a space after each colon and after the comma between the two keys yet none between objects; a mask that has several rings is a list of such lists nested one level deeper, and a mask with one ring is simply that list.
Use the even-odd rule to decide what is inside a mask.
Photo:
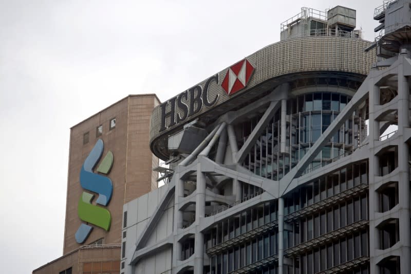
[{"label": "brown wall surface surrounding the blue and green ribbon logo", "polygon": [[[77,213],[83,192],[79,175],[84,160],[99,138],[104,142],[102,158],[109,150],[114,154],[113,168],[108,174],[113,182],[113,196],[107,206],[111,226],[109,231],[94,226],[84,245],[101,238],[104,244],[120,244],[124,203],[157,187],[157,173],[152,169],[158,165],[158,158],[151,153],[148,144],[150,117],[155,105],[158,105],[155,95],[128,96],[71,128],[63,254],[81,246],[74,239],[82,223]],[[116,127],[109,130],[112,118],[116,118]],[[100,124],[103,134],[96,137]],[[89,142],[83,144],[86,132],[89,132]],[[97,194],[93,201],[96,199]]]}]

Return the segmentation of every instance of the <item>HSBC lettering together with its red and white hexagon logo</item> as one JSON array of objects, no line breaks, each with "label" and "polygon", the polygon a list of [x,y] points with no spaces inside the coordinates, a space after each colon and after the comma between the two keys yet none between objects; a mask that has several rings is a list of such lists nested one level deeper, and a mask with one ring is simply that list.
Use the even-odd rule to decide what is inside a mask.
[{"label": "HSBC lettering together with its red and white hexagon logo", "polygon": [[[254,67],[247,59],[228,68],[223,81],[220,83],[220,74],[213,75],[203,86],[196,85],[185,90],[176,97],[162,103],[160,132],[172,127],[185,119],[195,116],[203,106],[211,107],[218,102],[220,94],[209,97],[209,88],[212,83],[220,84],[226,94],[231,96],[245,88],[253,74]],[[169,118],[169,119],[167,119]]]}]

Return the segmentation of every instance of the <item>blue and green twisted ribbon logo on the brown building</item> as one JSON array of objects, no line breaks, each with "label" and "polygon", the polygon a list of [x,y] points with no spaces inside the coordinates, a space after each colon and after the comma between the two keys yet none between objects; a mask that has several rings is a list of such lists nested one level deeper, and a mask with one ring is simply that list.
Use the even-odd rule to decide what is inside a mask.
[{"label": "blue and green twisted ribbon logo on the brown building", "polygon": [[[83,163],[80,171],[80,185],[83,189],[99,195],[96,204],[107,206],[113,194],[113,183],[110,178],[101,174],[107,175],[113,166],[113,153],[111,153],[111,151],[107,152],[100,166],[97,168],[97,172],[101,174],[94,173],[94,169],[100,161],[103,151],[104,143],[103,140],[99,139]],[[82,223],[76,232],[76,241],[79,244],[84,243],[93,229],[89,224],[101,227],[106,231],[110,229],[111,214],[106,208],[91,204],[94,196],[95,194],[83,191],[79,200],[79,217],[87,223]]]}]

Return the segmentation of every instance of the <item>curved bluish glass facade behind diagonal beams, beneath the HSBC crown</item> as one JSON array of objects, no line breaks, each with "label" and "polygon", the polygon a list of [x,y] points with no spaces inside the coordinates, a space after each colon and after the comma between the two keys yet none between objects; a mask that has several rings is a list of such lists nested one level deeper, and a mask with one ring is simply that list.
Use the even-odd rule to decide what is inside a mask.
[{"label": "curved bluish glass facade behind diagonal beams, beneath the HSBC crown", "polygon": [[[281,179],[304,157],[350,100],[350,96],[331,92],[309,93],[289,99],[286,121],[287,152],[280,151],[281,113],[278,111],[244,160],[243,166],[257,175],[273,180]],[[248,138],[259,118],[242,124],[242,140]],[[354,112],[315,157],[306,172],[350,154],[365,137],[365,119]]]}]

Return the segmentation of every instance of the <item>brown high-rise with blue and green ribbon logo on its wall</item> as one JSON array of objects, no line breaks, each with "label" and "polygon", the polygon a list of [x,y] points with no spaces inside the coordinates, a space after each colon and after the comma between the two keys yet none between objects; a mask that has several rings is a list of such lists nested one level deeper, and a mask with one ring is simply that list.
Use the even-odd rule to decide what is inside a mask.
[{"label": "brown high-rise with blue and green ribbon logo on its wall", "polygon": [[63,256],[33,273],[119,273],[123,204],[157,189],[158,104],[130,95],[71,127]]}]

